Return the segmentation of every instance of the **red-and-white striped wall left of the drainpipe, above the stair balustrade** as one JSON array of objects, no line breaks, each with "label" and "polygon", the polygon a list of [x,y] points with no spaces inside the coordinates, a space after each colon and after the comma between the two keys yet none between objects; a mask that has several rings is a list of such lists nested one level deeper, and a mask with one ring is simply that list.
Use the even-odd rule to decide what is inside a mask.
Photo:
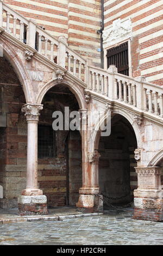
[{"label": "red-and-white striped wall left of the drainpipe, above the stair balustrade", "polygon": [[4,0],[18,13],[35,19],[54,36],[65,35],[68,44],[100,66],[101,0]]}]

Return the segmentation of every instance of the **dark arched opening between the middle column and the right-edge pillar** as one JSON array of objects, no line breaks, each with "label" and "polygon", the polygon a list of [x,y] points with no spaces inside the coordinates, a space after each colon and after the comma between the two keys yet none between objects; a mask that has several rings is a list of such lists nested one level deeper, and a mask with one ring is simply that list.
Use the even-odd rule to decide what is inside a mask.
[{"label": "dark arched opening between the middle column and the right-edge pillar", "polygon": [[136,136],[129,121],[120,114],[111,119],[111,134],[99,139],[99,188],[104,208],[133,201],[137,188],[134,150]]}]

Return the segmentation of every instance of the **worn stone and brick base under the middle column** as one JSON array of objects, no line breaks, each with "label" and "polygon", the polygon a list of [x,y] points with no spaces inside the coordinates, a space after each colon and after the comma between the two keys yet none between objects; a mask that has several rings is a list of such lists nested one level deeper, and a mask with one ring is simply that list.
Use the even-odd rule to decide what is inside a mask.
[{"label": "worn stone and brick base under the middle column", "polygon": [[76,206],[80,212],[103,212],[103,196],[101,194],[80,194]]}]

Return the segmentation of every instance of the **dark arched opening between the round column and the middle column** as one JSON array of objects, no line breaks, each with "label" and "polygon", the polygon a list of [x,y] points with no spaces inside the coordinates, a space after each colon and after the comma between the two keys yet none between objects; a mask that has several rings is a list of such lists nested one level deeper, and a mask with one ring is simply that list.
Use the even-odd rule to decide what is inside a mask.
[{"label": "dark arched opening between the round column and the middle column", "polygon": [[[78,130],[65,130],[72,111],[79,110],[74,94],[64,84],[55,84],[43,96],[38,125],[38,183],[47,197],[48,208],[76,205],[82,185],[82,139]],[[63,117],[63,127],[52,127],[55,111]]]}]

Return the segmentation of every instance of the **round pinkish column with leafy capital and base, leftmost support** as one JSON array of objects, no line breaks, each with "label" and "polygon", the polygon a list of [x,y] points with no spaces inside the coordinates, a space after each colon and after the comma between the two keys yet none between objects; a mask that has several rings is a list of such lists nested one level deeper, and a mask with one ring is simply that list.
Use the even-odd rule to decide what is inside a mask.
[{"label": "round pinkish column with leafy capital and base, leftmost support", "polygon": [[26,104],[22,107],[28,124],[27,135],[27,186],[18,197],[18,214],[47,214],[47,198],[37,184],[37,126],[42,105]]}]

